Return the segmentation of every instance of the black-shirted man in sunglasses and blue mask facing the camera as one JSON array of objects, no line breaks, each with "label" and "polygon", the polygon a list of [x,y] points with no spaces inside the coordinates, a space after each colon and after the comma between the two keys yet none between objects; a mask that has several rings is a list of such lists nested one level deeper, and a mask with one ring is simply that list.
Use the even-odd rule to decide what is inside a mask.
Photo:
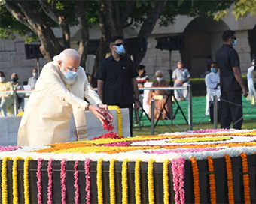
[{"label": "black-shirted man in sunglasses and blue mask facing the camera", "polygon": [[133,62],[124,53],[122,37],[109,42],[111,56],[105,58],[97,71],[98,94],[104,104],[129,108],[130,136],[133,136],[133,103],[139,109],[138,73]]}]

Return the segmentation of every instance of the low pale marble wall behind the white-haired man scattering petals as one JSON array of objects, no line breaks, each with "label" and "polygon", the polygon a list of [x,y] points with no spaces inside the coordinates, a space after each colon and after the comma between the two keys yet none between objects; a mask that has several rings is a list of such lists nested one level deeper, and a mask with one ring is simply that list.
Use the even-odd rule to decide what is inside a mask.
[{"label": "low pale marble wall behind the white-haired man scattering petals", "polygon": [[[114,132],[117,133],[117,111],[111,110],[114,116],[113,125]],[[129,110],[121,109],[122,124],[123,124],[123,136],[130,136],[130,125],[129,125]],[[101,136],[107,131],[103,130],[102,124],[98,118],[96,118],[90,111],[85,112],[87,119],[87,131],[88,139],[93,139],[94,136]],[[0,117],[0,145],[17,145],[17,132],[19,130],[21,117]],[[74,118],[70,121],[70,137],[69,141],[76,141],[75,134],[75,121]]]}]

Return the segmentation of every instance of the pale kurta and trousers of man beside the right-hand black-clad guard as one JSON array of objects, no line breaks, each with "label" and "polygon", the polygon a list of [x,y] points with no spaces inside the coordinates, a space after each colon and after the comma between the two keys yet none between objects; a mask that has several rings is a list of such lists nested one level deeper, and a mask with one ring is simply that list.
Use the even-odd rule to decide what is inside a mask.
[{"label": "pale kurta and trousers of man beside the right-hand black-clad guard", "polygon": [[221,97],[221,90],[218,87],[218,89],[215,89],[217,83],[220,82],[220,75],[218,73],[209,73],[206,75],[205,78],[206,82],[206,115],[209,115],[209,102],[213,101],[213,95],[217,95],[218,98]]}]

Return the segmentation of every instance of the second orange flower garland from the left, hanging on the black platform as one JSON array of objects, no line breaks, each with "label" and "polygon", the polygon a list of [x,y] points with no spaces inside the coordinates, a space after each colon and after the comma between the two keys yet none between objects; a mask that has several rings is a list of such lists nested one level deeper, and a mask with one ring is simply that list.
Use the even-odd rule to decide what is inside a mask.
[{"label": "second orange flower garland from the left, hanging on the black platform", "polygon": [[213,166],[212,157],[207,157],[207,160],[208,160],[208,169],[209,169],[211,203],[216,204],[215,169]]}]

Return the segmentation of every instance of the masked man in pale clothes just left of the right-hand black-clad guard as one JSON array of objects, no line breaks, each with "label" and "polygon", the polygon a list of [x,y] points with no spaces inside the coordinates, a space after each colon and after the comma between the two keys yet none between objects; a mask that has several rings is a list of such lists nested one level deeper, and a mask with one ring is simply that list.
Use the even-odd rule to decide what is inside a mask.
[{"label": "masked man in pale clothes just left of the right-hand black-clad guard", "polygon": [[[218,74],[216,62],[211,64],[211,72],[206,74],[205,78],[207,94],[206,94],[206,115],[210,115],[211,121],[213,121],[213,95],[216,95],[219,98],[221,97],[220,89],[220,75]],[[211,107],[210,107],[211,104]],[[218,114],[218,118],[219,118]]]}]

